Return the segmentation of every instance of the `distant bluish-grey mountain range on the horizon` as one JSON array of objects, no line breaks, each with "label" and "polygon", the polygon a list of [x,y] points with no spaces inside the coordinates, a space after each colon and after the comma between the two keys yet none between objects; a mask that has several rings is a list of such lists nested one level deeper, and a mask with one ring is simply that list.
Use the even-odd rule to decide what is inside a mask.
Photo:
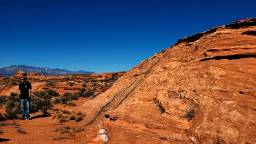
[{"label": "distant bluish-grey mountain range on the horizon", "polygon": [[25,66],[25,65],[12,65],[6,66],[4,68],[0,68],[0,75],[4,77],[10,77],[18,71],[26,72],[26,74],[30,74],[31,72],[39,72],[39,74],[46,74],[46,75],[65,75],[65,74],[93,74],[94,72],[87,72],[87,71],[68,71],[59,68],[39,68],[36,66]]}]

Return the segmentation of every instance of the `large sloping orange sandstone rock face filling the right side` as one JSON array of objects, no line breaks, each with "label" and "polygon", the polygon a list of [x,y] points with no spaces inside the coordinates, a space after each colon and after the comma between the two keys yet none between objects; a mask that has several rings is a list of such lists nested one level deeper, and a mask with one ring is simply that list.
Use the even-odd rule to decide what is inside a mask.
[{"label": "large sloping orange sandstone rock face filling the right side", "polygon": [[240,20],[144,60],[80,107],[87,142],[256,143],[255,32]]}]

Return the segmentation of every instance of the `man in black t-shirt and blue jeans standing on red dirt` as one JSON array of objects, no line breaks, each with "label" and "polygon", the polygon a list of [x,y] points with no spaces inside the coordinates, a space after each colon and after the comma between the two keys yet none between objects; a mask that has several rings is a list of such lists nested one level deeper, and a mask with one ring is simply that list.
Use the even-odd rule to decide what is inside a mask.
[{"label": "man in black t-shirt and blue jeans standing on red dirt", "polygon": [[19,95],[20,95],[20,106],[21,106],[21,119],[23,120],[26,114],[26,120],[30,120],[29,106],[30,106],[32,86],[29,82],[26,82],[26,77],[22,77],[20,78],[20,80],[21,80],[21,83],[19,86]]}]

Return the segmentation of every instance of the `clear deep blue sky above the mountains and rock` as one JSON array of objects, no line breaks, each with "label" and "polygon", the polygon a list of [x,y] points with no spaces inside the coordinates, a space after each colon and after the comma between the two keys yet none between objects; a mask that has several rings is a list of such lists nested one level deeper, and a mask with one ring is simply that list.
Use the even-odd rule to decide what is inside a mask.
[{"label": "clear deep blue sky above the mountains and rock", "polygon": [[0,0],[0,67],[127,71],[178,39],[256,17],[256,0]]}]

